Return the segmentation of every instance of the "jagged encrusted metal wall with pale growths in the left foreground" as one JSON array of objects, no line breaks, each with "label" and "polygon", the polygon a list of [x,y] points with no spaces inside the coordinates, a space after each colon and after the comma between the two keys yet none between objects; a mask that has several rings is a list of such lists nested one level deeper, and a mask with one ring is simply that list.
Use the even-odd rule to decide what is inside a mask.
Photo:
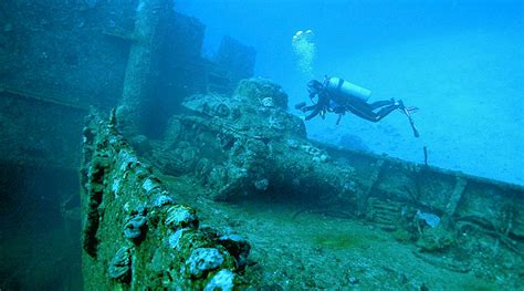
[{"label": "jagged encrusted metal wall with pale growths in the left foreground", "polygon": [[[83,274],[86,290],[221,289],[238,285],[245,240],[200,229],[109,121],[90,115],[82,165]],[[229,252],[231,243],[244,253]],[[228,289],[229,288],[229,289]]]}]

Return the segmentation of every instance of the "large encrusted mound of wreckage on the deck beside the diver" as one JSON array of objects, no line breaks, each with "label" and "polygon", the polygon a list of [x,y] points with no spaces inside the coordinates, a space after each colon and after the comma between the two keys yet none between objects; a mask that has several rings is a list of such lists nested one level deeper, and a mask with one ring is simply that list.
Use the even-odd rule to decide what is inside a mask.
[{"label": "large encrusted mound of wreckage on the deck beside the diver", "polygon": [[[352,168],[329,163],[325,150],[305,139],[304,123],[284,111],[281,86],[249,79],[232,96],[193,95],[182,105],[191,114],[171,118],[165,147],[151,157],[165,173],[197,174],[216,200],[276,189],[303,196],[305,187],[317,188],[315,199],[324,204],[331,194],[350,199]],[[220,107],[231,113],[220,114]]]}]

